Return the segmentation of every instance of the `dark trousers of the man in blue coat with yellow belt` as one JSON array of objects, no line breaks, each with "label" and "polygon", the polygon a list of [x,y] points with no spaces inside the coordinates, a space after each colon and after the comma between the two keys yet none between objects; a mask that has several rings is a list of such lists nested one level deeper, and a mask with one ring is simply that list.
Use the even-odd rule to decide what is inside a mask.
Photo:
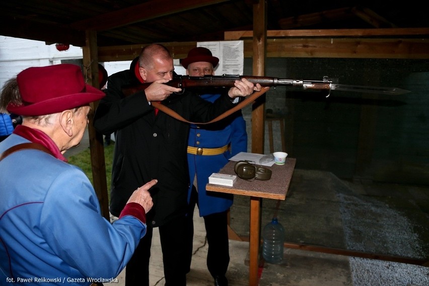
[{"label": "dark trousers of the man in blue coat with yellow belt", "polygon": [[[192,241],[194,235],[193,213],[195,204],[198,204],[198,193],[192,187],[189,201],[187,220],[188,231],[186,232],[186,259],[187,270],[190,270],[192,260]],[[225,276],[230,263],[229,241],[228,241],[228,211],[216,212],[203,217],[205,232],[207,235],[207,269],[211,276]]]}]

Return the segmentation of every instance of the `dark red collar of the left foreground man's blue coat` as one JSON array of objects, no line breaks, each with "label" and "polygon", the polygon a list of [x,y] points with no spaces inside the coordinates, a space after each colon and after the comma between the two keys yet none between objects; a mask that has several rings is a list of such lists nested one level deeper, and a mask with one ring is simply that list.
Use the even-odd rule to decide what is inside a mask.
[{"label": "dark red collar of the left foreground man's blue coat", "polygon": [[44,132],[24,125],[18,125],[14,130],[14,134],[17,134],[33,143],[37,143],[46,147],[53,157],[64,162],[68,162],[68,160],[62,156],[54,141],[52,141],[52,139]]}]

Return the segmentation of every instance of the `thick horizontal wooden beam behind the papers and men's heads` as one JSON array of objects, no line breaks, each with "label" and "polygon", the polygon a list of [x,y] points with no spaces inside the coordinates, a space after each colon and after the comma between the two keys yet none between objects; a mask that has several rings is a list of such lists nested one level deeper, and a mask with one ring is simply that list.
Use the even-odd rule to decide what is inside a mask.
[{"label": "thick horizontal wooden beam behind the papers and men's heads", "polygon": [[[174,58],[184,58],[196,42],[163,43]],[[98,47],[100,61],[132,60],[145,45]],[[429,39],[267,39],[266,57],[429,59]],[[253,39],[244,40],[244,57],[253,57]]]}]

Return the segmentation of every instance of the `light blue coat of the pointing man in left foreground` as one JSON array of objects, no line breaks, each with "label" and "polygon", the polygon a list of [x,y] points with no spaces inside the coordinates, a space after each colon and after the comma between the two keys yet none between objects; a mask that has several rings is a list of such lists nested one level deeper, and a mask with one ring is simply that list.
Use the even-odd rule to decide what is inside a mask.
[{"label": "light blue coat of the pointing man in left foreground", "polygon": [[[28,140],[12,134],[0,143],[0,153],[23,142]],[[146,225],[131,216],[113,225],[104,219],[85,173],[47,153],[9,155],[0,161],[0,182],[2,285],[7,278],[18,285],[49,286],[113,279],[146,233]]]}]

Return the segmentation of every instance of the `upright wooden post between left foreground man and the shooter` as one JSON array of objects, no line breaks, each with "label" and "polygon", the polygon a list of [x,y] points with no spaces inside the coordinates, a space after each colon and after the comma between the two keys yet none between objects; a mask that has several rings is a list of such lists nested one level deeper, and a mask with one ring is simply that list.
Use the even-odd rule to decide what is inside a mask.
[{"label": "upright wooden post between left foreground man and the shooter", "polygon": [[[97,32],[86,31],[86,45],[83,47],[84,76],[87,84],[100,88],[98,82],[98,47]],[[94,189],[100,202],[101,215],[110,221],[109,199],[106,183],[106,165],[104,162],[103,134],[93,127],[94,111],[98,101],[91,103],[89,114],[88,134],[91,150],[91,167]]]}]

